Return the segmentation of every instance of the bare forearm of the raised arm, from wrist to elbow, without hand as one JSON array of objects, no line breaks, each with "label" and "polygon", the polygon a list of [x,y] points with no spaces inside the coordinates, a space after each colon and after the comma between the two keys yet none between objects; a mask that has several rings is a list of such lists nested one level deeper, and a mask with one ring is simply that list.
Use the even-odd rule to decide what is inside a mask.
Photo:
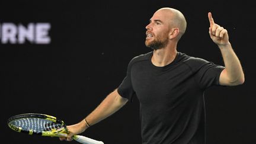
[{"label": "bare forearm of the raised arm, from wrist to elbow, without hand", "polygon": [[225,63],[225,71],[231,84],[242,84],[244,82],[244,72],[241,63],[232,49],[231,43],[219,46]]}]

